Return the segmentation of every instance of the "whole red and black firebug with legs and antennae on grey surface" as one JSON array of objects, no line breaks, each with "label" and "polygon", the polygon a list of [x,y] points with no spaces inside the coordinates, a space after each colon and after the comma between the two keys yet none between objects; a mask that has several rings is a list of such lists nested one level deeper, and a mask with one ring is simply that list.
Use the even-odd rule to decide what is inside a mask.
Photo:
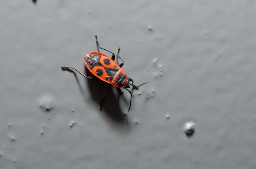
[{"label": "whole red and black firebug with legs and antennae on grey surface", "polygon": [[[106,50],[106,51],[112,53],[112,57],[110,59],[107,55],[105,55],[103,53],[91,52],[91,53],[85,55],[85,58],[84,58],[85,66],[86,66],[86,68],[88,68],[88,70],[90,70],[90,72],[92,72],[92,74],[95,77],[101,79],[102,81],[105,81],[106,83],[110,83],[111,85],[115,86],[117,89],[117,92],[120,95],[123,94],[123,92],[121,91],[120,88],[126,89],[131,94],[130,106],[129,106],[129,110],[130,110],[131,103],[132,103],[132,92],[130,92],[130,90],[128,90],[127,88],[130,88],[130,86],[132,86],[133,88],[138,89],[139,86],[148,83],[148,81],[145,83],[142,83],[139,86],[134,85],[133,80],[130,77],[128,77],[126,72],[124,72],[124,70],[121,68],[124,65],[124,61],[119,56],[120,47],[117,48],[116,55],[117,55],[117,57],[119,57],[119,59],[122,61],[122,63],[118,65],[115,62],[115,53],[99,46],[99,41],[97,39],[97,35],[95,35],[95,39],[96,39],[96,44],[97,44],[98,48],[101,48],[103,50]],[[81,73],[79,70],[77,70],[74,67],[61,66],[61,68],[63,70],[74,69],[77,72],[79,72],[81,75],[83,75],[83,73]],[[94,79],[94,77],[92,77],[92,76],[85,76],[85,75],[83,75],[83,76],[86,77],[87,79]],[[130,83],[130,81],[132,83]],[[110,92],[111,85],[108,88],[106,96],[103,97],[103,99],[101,100],[101,105],[100,105],[101,107],[102,107],[102,103],[103,103],[104,99],[106,99],[106,97],[108,96],[108,94]],[[100,110],[101,109],[102,108],[100,108]]]}]

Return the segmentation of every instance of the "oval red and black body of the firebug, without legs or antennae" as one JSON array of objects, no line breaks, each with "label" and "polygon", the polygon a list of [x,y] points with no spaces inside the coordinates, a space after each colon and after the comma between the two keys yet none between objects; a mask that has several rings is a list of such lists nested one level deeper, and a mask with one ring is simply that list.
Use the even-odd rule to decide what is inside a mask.
[{"label": "oval red and black body of the firebug, without legs or antennae", "polygon": [[128,81],[126,72],[112,59],[103,53],[91,52],[85,56],[85,66],[92,74],[102,81],[118,88],[129,88],[125,85]]}]

